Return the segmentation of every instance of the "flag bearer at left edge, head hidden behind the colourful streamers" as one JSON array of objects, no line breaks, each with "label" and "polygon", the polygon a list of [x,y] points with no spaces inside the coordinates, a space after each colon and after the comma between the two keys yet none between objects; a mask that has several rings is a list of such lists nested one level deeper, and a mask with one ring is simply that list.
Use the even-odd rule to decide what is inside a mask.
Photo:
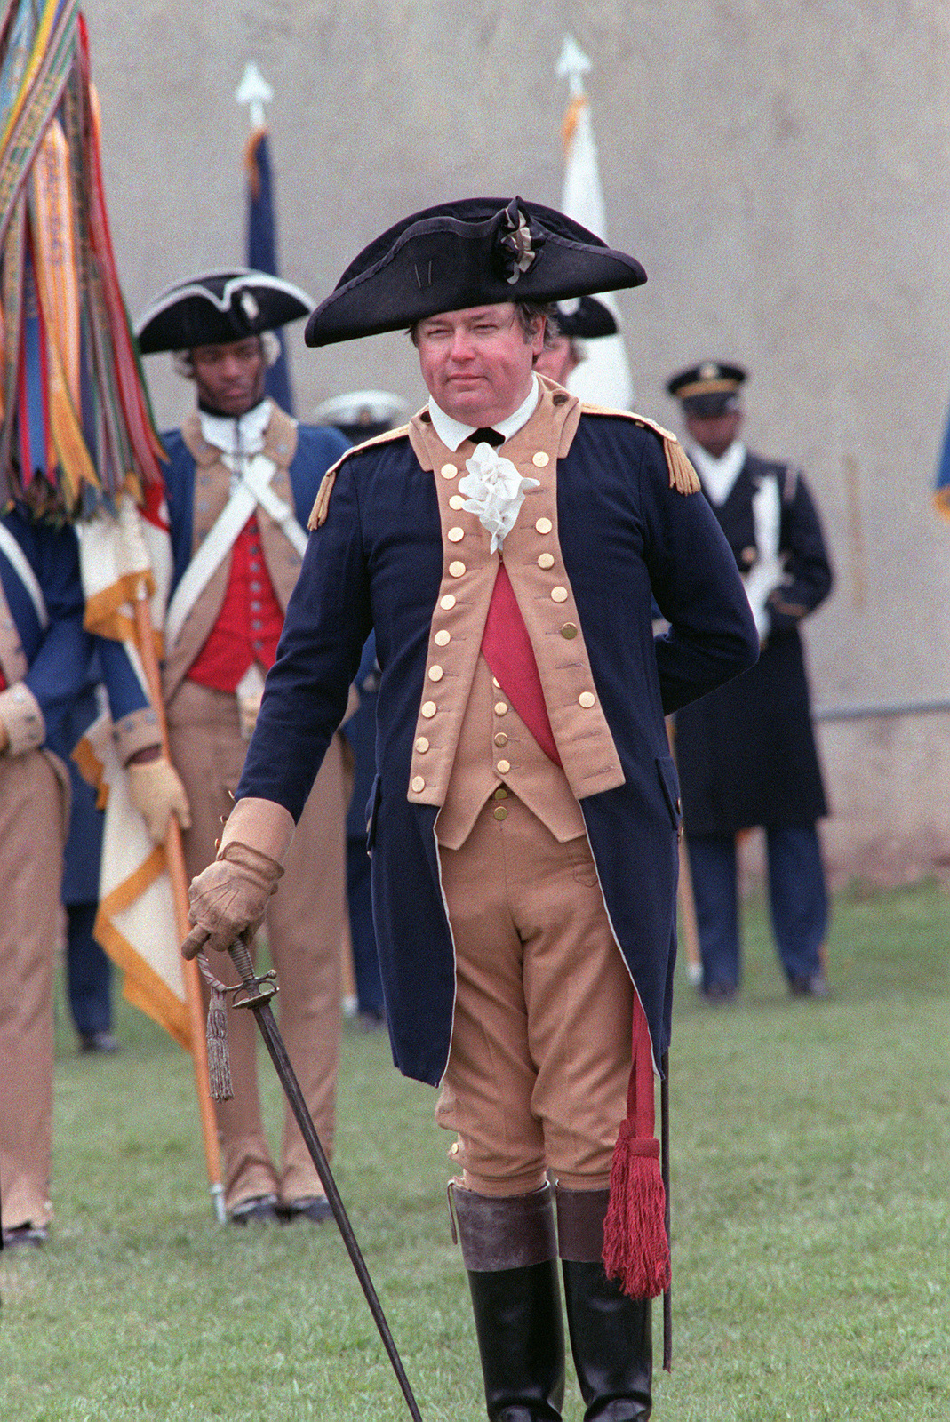
[{"label": "flag bearer at left edge, head hidden behind the colourful streamers", "polygon": [[[97,640],[82,629],[78,546],[13,508],[0,518],[0,1189],[3,1243],[41,1244],[53,1216],[53,974],[70,754],[97,720]],[[188,818],[158,721],[121,643],[98,643],[134,805],[164,838]],[[137,764],[141,762],[141,764]],[[95,875],[98,855],[95,855]],[[92,887],[95,897],[97,886]]]}]

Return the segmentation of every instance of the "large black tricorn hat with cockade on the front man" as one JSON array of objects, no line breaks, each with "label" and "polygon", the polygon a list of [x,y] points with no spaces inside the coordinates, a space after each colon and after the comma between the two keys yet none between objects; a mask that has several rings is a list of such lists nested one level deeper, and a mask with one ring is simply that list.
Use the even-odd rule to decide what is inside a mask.
[{"label": "large black tricorn hat with cockade on the front man", "polygon": [[466,198],[404,218],[350,263],[316,309],[307,346],[404,330],[441,311],[498,301],[559,301],[640,286],[624,252],[553,208]]}]

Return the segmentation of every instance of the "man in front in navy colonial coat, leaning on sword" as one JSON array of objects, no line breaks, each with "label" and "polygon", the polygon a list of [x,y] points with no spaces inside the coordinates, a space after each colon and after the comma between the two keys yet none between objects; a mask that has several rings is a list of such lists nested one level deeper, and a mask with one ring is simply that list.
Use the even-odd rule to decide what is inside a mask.
[{"label": "man in front in navy colonial coat, leaning on sword", "polygon": [[186,953],[257,920],[374,629],[387,1018],[455,1133],[495,1422],[560,1416],[559,1256],[586,1416],[650,1415],[661,1189],[660,1239],[607,1204],[614,1155],[631,1182],[657,1166],[680,822],[664,711],[757,654],[676,439],[532,370],[546,303],[644,279],[562,213],[469,199],[390,229],[314,311],[317,346],[408,326],[431,398],[324,482],[238,805],[192,884]]}]

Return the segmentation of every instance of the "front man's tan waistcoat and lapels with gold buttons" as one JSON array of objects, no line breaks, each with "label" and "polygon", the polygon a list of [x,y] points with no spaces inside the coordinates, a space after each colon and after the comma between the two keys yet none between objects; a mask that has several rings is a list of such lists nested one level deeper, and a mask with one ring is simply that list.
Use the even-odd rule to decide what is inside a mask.
[{"label": "front man's tan waistcoat and lapels with gold buttons", "polygon": [[[579,799],[623,785],[557,539],[557,458],[570,448],[579,419],[579,401],[542,383],[535,414],[502,449],[519,474],[540,481],[540,488],[525,496],[503,557],[538,661],[563,771],[492,687],[481,657],[499,556],[489,553],[489,535],[476,515],[462,509],[465,499],[458,493],[474,447],[465,441],[452,454],[427,412],[410,424],[412,449],[435,478],[445,552],[408,798],[444,806],[437,833],[448,846],[464,842],[486,796],[502,781],[557,839],[583,833]],[[501,705],[506,710],[499,711]],[[499,735],[509,738],[505,745],[496,744]],[[508,768],[501,769],[502,764]]]}]

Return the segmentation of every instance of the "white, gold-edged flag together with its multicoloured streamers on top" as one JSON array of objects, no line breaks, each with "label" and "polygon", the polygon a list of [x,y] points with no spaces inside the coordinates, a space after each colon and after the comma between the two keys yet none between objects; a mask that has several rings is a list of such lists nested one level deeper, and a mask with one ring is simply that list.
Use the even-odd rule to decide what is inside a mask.
[{"label": "white, gold-edged flag together with its multicoloured streamers on top", "polygon": [[[135,606],[161,603],[161,627],[162,448],[112,253],[88,37],[77,0],[1,14],[0,505],[75,523],[85,624],[125,644],[151,694],[161,643],[144,644]],[[107,715],[73,754],[105,806],[97,937],[125,997],[189,1047],[165,850],[128,801]]]}]

